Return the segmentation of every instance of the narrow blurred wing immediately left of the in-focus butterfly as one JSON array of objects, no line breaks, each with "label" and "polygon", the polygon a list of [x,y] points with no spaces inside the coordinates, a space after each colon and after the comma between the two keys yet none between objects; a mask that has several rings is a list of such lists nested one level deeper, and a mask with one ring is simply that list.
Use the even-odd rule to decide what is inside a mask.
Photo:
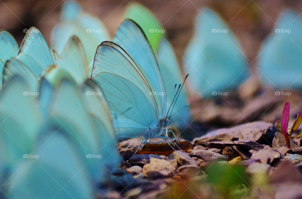
[{"label": "narrow blurred wing immediately left of the in-focus butterfly", "polygon": [[[89,113],[95,123],[97,131],[98,146],[102,151],[102,165],[109,172],[115,172],[120,165],[121,158],[116,148],[116,138],[112,127],[109,107],[103,96],[103,92],[97,84],[88,79],[82,85],[82,94],[87,113]],[[106,172],[106,170],[105,170]],[[111,174],[106,172],[109,176]],[[106,177],[103,177],[106,179]]]}]

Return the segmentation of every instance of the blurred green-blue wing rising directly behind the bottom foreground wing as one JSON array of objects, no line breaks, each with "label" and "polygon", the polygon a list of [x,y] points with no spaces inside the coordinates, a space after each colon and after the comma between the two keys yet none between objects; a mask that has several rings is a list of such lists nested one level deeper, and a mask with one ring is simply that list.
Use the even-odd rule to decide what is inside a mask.
[{"label": "blurred green-blue wing rising directly behind the bottom foreground wing", "polygon": [[[50,121],[60,130],[65,131],[77,144],[81,157],[86,159],[87,154],[102,154],[97,131],[92,117],[87,113],[87,100],[81,97],[79,87],[75,81],[60,80],[55,97],[49,109]],[[104,168],[102,159],[87,158],[87,167],[92,177],[100,182]]]}]

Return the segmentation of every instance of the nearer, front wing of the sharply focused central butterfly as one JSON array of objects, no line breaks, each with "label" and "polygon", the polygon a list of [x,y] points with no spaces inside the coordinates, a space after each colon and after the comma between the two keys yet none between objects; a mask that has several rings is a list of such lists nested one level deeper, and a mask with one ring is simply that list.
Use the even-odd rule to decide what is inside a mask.
[{"label": "nearer, front wing of the sharply focused central butterfly", "polygon": [[103,44],[98,47],[92,78],[108,101],[117,136],[140,137],[148,126],[156,126],[159,122],[156,103],[133,60],[113,46]]}]

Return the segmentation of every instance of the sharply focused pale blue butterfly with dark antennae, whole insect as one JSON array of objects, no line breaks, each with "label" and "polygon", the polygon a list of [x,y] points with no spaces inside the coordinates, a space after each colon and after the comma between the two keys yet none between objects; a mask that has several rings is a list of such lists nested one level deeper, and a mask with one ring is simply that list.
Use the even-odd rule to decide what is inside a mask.
[{"label": "sharply focused pale blue butterfly with dark antennae, whole insect", "polygon": [[113,42],[98,46],[92,79],[108,101],[116,136],[140,137],[142,144],[154,137],[168,139],[169,131],[176,131],[171,114],[183,84],[174,86],[167,105],[157,60],[135,22],[125,20],[120,24]]}]

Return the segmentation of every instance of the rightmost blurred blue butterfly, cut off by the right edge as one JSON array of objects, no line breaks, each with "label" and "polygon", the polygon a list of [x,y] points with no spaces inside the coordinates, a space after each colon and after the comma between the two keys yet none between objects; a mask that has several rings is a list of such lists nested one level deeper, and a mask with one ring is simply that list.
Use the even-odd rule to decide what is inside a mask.
[{"label": "rightmost blurred blue butterfly, cut off by the right edge", "polygon": [[259,53],[262,80],[277,88],[301,87],[302,18],[292,10],[283,11]]}]

